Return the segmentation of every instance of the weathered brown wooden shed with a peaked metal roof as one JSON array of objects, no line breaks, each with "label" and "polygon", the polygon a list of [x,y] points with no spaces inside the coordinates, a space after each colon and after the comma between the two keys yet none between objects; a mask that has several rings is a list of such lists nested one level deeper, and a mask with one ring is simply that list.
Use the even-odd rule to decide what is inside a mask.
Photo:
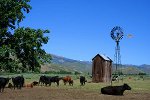
[{"label": "weathered brown wooden shed with a peaked metal roof", "polygon": [[105,56],[97,54],[92,59],[92,81],[110,82],[112,75],[112,60]]}]

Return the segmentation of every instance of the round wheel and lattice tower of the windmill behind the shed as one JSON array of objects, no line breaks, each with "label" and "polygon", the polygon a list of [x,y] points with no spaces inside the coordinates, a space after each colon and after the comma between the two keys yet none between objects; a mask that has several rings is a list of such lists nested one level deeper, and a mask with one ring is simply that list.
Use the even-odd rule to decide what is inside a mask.
[{"label": "round wheel and lattice tower of the windmill behind the shed", "polygon": [[115,62],[115,67],[116,67],[115,74],[120,74],[120,71],[118,69],[118,68],[121,68],[121,55],[120,55],[119,42],[123,38],[124,33],[121,27],[116,26],[111,30],[110,35],[112,39],[116,42],[115,56],[114,56],[114,62]]}]

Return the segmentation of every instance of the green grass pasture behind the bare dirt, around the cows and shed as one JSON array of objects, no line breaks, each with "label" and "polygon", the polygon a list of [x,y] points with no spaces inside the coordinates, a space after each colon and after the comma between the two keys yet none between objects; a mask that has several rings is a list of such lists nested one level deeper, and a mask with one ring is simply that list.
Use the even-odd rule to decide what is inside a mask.
[{"label": "green grass pasture behind the bare dirt, around the cows and shed", "polygon": [[[41,75],[47,76],[56,76],[56,74],[34,74],[34,73],[23,73],[23,74],[3,74],[0,77],[15,77],[18,75],[23,75],[25,78],[25,83],[31,83],[33,81],[39,81],[39,77]],[[64,77],[65,74],[58,74],[57,76]],[[100,89],[104,86],[110,85],[110,83],[92,83],[92,79],[85,75],[87,79],[87,83],[85,86],[80,86],[79,76],[80,75],[70,75],[74,80],[74,85],[69,86],[69,84],[64,85],[62,80],[60,81],[60,86],[57,87],[56,84],[52,83],[50,88],[61,88],[61,89],[82,89],[85,91],[100,91]],[[11,81],[10,81],[11,82]],[[112,85],[123,85],[127,83],[129,86],[132,87],[132,92],[150,92],[150,76],[144,76],[144,80],[140,78],[138,75],[126,75],[123,77],[123,81],[120,80],[119,82],[114,81]]]}]

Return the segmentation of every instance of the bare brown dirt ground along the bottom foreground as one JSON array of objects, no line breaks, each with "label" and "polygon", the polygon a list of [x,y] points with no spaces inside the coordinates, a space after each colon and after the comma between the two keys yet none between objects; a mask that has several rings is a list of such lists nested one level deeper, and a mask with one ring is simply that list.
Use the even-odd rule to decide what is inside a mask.
[{"label": "bare brown dirt ground along the bottom foreground", "polygon": [[6,88],[0,100],[149,100],[149,92],[125,91],[124,96],[103,95],[98,91],[64,89],[60,87],[34,87],[21,90]]}]

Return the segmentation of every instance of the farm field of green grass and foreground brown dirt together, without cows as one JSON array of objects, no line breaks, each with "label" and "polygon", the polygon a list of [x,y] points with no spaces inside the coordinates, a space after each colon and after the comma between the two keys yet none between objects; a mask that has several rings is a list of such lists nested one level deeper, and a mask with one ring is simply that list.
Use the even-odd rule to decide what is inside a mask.
[{"label": "farm field of green grass and foreground brown dirt together, without cows", "polygon": [[[33,79],[30,76],[34,77]],[[38,80],[39,75],[25,75],[26,84],[33,80]],[[113,82],[113,85],[122,85],[127,83],[132,87],[131,91],[125,91],[124,96],[103,95],[100,89],[110,83],[90,83],[91,79],[85,86],[80,86],[79,79],[74,78],[74,86],[64,85],[60,81],[60,86],[52,83],[51,86],[35,86],[33,88],[24,87],[21,90],[11,90],[5,88],[3,93],[0,93],[0,100],[149,100],[150,98],[150,80],[142,79],[135,80],[136,77],[123,82]]]}]

